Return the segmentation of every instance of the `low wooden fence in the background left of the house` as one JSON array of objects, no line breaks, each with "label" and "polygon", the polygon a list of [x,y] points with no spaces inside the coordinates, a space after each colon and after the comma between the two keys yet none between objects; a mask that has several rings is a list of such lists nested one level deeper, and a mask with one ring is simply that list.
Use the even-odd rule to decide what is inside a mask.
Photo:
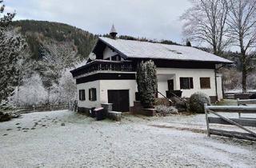
[{"label": "low wooden fence in the background left of the house", "polygon": [[18,112],[20,114],[29,113],[29,112],[67,110],[67,109],[69,109],[68,104],[46,105],[46,106],[21,106],[21,107],[16,107],[15,108],[15,110],[18,110]]}]

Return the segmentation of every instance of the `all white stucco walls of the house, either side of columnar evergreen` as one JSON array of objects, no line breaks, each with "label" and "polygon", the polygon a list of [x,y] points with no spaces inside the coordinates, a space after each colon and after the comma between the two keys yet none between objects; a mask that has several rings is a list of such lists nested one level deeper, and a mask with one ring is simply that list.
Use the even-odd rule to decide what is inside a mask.
[{"label": "all white stucco walls of the house, either side of columnar evergreen", "polygon": [[[192,77],[194,83],[194,89],[182,90],[182,97],[189,98],[194,92],[201,91],[209,96],[216,96],[215,90],[215,73],[214,70],[191,70],[191,69],[176,69],[176,68],[158,68],[158,91],[166,95],[168,90],[167,80],[174,79],[174,90],[180,90],[181,77]],[[210,78],[210,89],[200,88],[200,78]],[[222,78],[221,75],[217,77],[218,83],[218,98],[222,98]],[[96,88],[97,101],[91,102],[89,100],[89,89]],[[77,85],[78,90],[86,90],[86,100],[79,101],[80,107],[99,107],[102,103],[108,102],[107,90],[129,90],[130,94],[130,106],[134,106],[135,92],[137,92],[137,84],[135,80],[98,80],[94,82],[86,82]],[[78,93],[79,95],[79,93]],[[161,94],[158,94],[158,98],[162,98]]]}]

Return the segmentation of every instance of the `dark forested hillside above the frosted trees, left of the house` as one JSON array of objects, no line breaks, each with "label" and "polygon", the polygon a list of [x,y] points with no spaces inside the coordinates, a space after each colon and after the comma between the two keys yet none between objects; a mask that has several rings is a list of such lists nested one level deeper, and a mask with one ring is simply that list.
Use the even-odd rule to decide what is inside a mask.
[{"label": "dark forested hillside above the frosted trees, left of the house", "polygon": [[21,20],[13,22],[13,26],[21,28],[34,59],[42,58],[40,46],[45,40],[74,42],[78,48],[78,57],[87,58],[97,39],[96,35],[88,31],[59,22]]}]

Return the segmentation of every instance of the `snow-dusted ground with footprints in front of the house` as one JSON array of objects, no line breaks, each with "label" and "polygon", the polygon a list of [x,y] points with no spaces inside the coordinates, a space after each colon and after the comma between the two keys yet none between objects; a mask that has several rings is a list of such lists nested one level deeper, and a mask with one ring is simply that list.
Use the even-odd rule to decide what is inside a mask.
[{"label": "snow-dusted ground with footprints in front of the house", "polygon": [[203,114],[124,114],[122,122],[68,110],[24,114],[0,123],[0,167],[255,167],[255,142],[205,130]]}]

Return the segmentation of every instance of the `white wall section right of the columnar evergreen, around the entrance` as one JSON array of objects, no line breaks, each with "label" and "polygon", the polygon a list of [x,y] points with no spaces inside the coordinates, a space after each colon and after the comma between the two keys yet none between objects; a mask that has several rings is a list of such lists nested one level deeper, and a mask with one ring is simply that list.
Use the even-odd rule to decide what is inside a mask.
[{"label": "white wall section right of the columnar evergreen, around the entrance", "polygon": [[[216,96],[215,90],[215,73],[213,69],[179,69],[179,68],[158,68],[157,69],[158,77],[161,75],[174,75],[172,78],[174,79],[174,90],[180,90],[180,81],[181,77],[192,77],[194,89],[190,90],[182,90],[182,97],[189,98],[191,94],[194,92],[201,91],[209,96]],[[201,77],[210,77],[210,89],[201,89],[200,88],[200,78]],[[171,79],[171,78],[168,78]],[[166,83],[162,82],[162,84],[158,84],[158,90],[161,90],[163,93],[166,93],[167,80]],[[162,94],[163,94],[162,93]],[[165,95],[165,94],[164,94]],[[159,98],[162,96],[159,95]]]}]

